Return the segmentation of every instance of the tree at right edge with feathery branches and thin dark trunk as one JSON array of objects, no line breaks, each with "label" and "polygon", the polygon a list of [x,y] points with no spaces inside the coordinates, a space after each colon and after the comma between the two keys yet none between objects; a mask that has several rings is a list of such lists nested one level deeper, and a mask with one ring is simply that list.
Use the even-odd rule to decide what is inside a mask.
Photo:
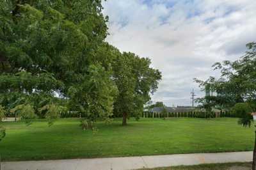
[{"label": "tree at right edge with feathery branches and thin dark trunk", "polygon": [[[256,111],[256,42],[246,45],[246,54],[236,61],[223,61],[215,63],[215,70],[220,70],[220,79],[211,77],[207,81],[199,81],[200,86],[207,90],[212,86],[212,91],[217,95],[204,97],[200,100],[203,104],[210,104],[211,107],[223,105],[232,108],[231,111],[239,116],[239,124],[251,125],[251,112]],[[253,151],[253,169],[256,165],[256,131],[255,148]]]}]

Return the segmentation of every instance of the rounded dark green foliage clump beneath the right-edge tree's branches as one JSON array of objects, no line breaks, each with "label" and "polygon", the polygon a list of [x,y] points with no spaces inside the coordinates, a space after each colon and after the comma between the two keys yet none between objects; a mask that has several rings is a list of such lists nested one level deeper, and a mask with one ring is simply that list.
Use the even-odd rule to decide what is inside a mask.
[{"label": "rounded dark green foliage clump beneath the right-edge tree's branches", "polygon": [[240,125],[243,125],[244,127],[250,127],[251,126],[251,120],[252,120],[252,108],[247,103],[238,103],[232,107],[233,114],[236,114],[239,116],[238,123]]}]

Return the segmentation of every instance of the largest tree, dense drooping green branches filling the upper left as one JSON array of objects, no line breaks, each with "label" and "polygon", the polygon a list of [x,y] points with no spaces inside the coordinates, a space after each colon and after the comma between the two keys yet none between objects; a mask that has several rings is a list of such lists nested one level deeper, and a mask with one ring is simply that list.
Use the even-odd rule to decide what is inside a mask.
[{"label": "largest tree, dense drooping green branches filling the upper left", "polygon": [[[1,104],[13,112],[20,112],[21,107],[31,108],[52,118],[49,113],[55,108],[52,102],[56,94],[74,102],[76,89],[77,93],[89,96],[77,99],[76,106],[86,105],[86,111],[97,115],[99,107],[110,111],[111,95],[104,99],[95,97],[103,89],[108,94],[113,88],[108,71],[110,57],[113,58],[109,49],[113,47],[104,42],[108,35],[107,20],[98,0],[1,1]],[[101,91],[99,84],[104,86]],[[79,108],[70,110],[81,111]],[[97,116],[88,118],[92,117]]]}]

